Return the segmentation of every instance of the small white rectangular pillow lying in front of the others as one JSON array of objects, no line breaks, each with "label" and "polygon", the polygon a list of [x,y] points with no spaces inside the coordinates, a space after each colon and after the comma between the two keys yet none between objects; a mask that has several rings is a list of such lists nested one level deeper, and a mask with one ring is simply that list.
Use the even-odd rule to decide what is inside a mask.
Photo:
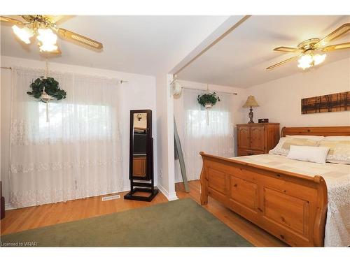
[{"label": "small white rectangular pillow lying in front of the others", "polygon": [[308,161],[314,163],[325,163],[329,147],[308,147],[299,145],[290,145],[288,159]]}]

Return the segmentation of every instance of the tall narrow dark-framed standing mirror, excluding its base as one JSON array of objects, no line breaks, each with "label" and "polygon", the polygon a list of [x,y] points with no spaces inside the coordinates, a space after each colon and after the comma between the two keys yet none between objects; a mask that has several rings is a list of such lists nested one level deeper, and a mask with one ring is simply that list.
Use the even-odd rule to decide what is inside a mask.
[{"label": "tall narrow dark-framed standing mirror, excluding its base", "polygon": [[153,157],[150,111],[130,112],[130,179],[149,180],[151,177]]}]

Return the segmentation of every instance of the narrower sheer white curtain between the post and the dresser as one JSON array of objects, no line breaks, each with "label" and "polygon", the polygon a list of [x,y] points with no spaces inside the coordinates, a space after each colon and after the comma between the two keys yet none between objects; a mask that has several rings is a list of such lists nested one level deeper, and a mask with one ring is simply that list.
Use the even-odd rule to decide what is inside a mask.
[{"label": "narrower sheer white curtain between the post and the dresser", "polygon": [[[221,101],[206,110],[197,102],[204,92],[183,90],[183,154],[188,180],[200,178],[202,157],[200,152],[220,157],[234,157],[232,95],[218,93]],[[207,112],[208,111],[208,112]],[[209,121],[207,121],[207,113]]]}]

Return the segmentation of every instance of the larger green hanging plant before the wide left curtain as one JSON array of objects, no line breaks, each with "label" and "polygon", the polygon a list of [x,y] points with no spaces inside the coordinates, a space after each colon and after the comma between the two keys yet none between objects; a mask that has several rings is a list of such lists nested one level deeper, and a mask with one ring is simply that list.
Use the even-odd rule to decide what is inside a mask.
[{"label": "larger green hanging plant before the wide left curtain", "polygon": [[31,92],[27,92],[29,96],[34,96],[36,99],[40,99],[44,103],[50,100],[65,99],[66,92],[59,88],[59,83],[54,78],[36,78],[34,82],[31,83]]}]

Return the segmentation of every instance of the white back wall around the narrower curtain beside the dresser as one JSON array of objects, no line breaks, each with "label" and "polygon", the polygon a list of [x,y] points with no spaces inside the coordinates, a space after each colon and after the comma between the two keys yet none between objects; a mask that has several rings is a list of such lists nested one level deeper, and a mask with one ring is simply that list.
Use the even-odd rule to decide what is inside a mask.
[{"label": "white back wall around the narrower curtain beside the dresser", "polygon": [[[207,89],[207,84],[200,82],[191,82],[185,80],[179,80],[183,87],[192,88],[192,89]],[[216,91],[220,96],[220,92],[229,92],[229,93],[237,93],[237,95],[232,95],[232,123],[241,124],[244,121],[244,113],[245,108],[241,108],[241,106],[246,101],[246,89],[237,88],[237,87],[225,87],[223,85],[208,85],[209,90],[211,92]],[[183,141],[184,134],[184,123],[183,123],[183,93],[180,96],[174,97],[174,116],[176,119],[176,127],[179,132],[180,142]],[[236,129],[234,129],[234,137],[236,138]],[[236,140],[236,139],[235,139]],[[237,146],[235,143],[235,155],[237,155]],[[175,160],[175,182],[182,182],[181,170],[179,160]]]}]

